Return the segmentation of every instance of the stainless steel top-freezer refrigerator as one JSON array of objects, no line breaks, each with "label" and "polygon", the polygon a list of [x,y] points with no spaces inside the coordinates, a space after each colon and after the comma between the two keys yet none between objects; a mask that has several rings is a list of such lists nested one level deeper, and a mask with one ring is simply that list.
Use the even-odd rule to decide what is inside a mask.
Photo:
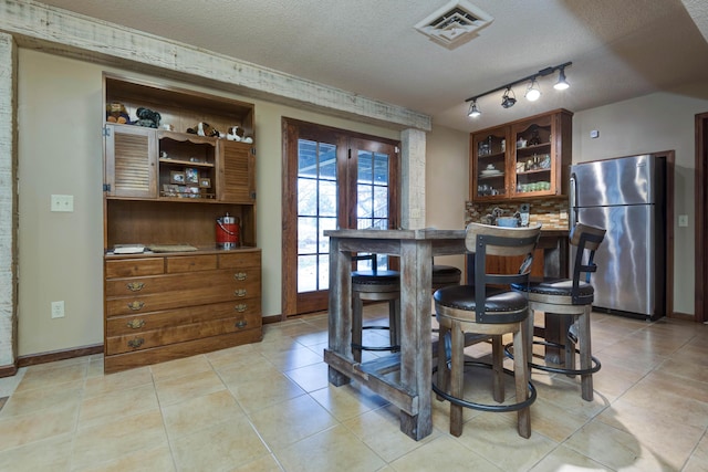
[{"label": "stainless steel top-freezer refrigerator", "polygon": [[607,230],[595,253],[593,307],[649,319],[666,315],[666,156],[577,164],[570,183],[571,225]]}]

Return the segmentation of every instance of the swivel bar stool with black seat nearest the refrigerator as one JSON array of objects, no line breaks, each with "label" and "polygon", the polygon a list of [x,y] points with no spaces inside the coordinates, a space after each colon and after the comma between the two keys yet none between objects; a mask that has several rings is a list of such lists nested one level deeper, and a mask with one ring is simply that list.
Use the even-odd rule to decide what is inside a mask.
[{"label": "swivel bar stool with black seat nearest the refrigerator", "polygon": [[[572,229],[570,235],[571,245],[576,248],[575,260],[573,262],[572,279],[546,279],[543,282],[530,284],[513,284],[512,289],[529,297],[529,331],[531,333],[527,346],[527,357],[532,368],[553,374],[565,374],[568,376],[581,376],[582,397],[586,401],[593,399],[593,374],[601,368],[600,360],[592,355],[592,343],[590,335],[590,314],[595,291],[590,284],[590,277],[597,266],[593,262],[595,251],[600,248],[605,237],[605,230],[577,223]],[[586,262],[584,262],[586,261]],[[584,274],[584,276],[582,276]],[[562,316],[563,333],[565,344],[551,343],[548,340],[533,340],[533,313],[544,312],[545,316]],[[555,346],[565,352],[565,364],[554,366],[550,364],[541,365],[532,363],[533,344]],[[575,348],[580,345],[580,349]],[[504,348],[507,355],[513,358],[510,346]],[[580,354],[580,369],[575,368],[575,354]]]}]

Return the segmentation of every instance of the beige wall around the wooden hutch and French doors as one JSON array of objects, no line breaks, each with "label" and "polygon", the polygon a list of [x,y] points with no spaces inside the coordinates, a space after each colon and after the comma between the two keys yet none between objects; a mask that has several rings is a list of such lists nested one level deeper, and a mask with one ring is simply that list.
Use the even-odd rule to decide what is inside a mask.
[{"label": "beige wall around the wooden hutch and French doors", "polygon": [[[20,356],[103,342],[101,128],[104,70],[137,76],[93,63],[19,50]],[[259,247],[263,250],[262,306],[264,316],[279,315],[281,117],[393,139],[398,139],[399,133],[253,101],[248,96],[222,95],[256,105],[257,231]],[[75,211],[50,212],[53,193],[73,195]],[[64,301],[64,318],[51,318],[52,301]]]}]

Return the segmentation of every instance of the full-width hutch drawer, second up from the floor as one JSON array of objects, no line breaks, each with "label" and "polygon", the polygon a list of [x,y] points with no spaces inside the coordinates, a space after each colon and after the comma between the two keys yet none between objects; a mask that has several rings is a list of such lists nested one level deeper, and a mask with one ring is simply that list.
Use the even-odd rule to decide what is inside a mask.
[{"label": "full-width hutch drawer, second up from the floor", "polygon": [[186,326],[215,319],[233,318],[246,321],[242,327],[260,327],[260,298],[222,302],[211,305],[188,308],[166,310],[145,314],[113,316],[106,319],[106,335],[108,337],[136,335],[155,329]]}]

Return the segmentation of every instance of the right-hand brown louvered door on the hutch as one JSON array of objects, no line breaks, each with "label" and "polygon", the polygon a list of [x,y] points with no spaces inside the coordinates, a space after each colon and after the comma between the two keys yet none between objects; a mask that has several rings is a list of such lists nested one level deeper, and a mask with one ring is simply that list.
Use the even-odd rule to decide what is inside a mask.
[{"label": "right-hand brown louvered door on the hutch", "polygon": [[219,140],[217,198],[231,203],[256,202],[256,157],[252,146]]}]

